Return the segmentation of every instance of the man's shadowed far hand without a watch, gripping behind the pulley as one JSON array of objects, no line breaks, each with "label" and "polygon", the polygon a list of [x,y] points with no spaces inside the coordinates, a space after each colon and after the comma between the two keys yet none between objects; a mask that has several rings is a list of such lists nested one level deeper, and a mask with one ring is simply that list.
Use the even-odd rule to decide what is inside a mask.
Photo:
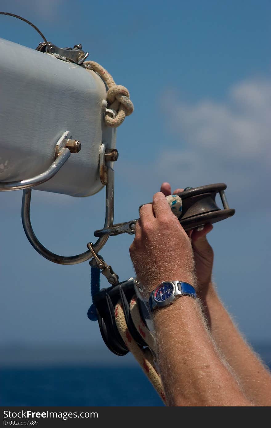
[{"label": "man's shadowed far hand without a watch, gripping behind the pulley", "polygon": [[[175,195],[176,193],[182,192],[183,189],[176,189],[171,193],[171,187],[169,183],[163,183],[161,186],[161,192],[165,196]],[[192,248],[194,252],[195,269],[197,276],[198,292],[205,294],[209,284],[211,283],[211,274],[213,268],[214,252],[211,245],[206,239],[208,232],[211,232],[213,226],[206,224],[204,229],[198,231],[196,229],[188,231],[188,236],[191,239]]]}]

